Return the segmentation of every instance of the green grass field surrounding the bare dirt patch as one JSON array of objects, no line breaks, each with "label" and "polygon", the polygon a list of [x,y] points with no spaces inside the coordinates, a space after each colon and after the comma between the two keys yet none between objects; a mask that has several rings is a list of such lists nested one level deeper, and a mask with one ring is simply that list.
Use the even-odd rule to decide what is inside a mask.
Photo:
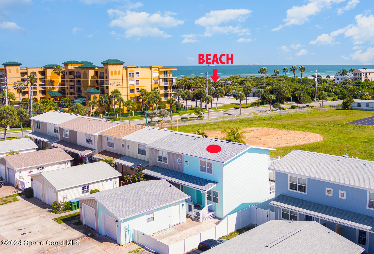
[{"label": "green grass field surrounding the bare dirt patch", "polygon": [[363,110],[328,110],[297,115],[186,125],[180,126],[178,131],[193,132],[196,129],[209,131],[234,127],[269,127],[314,132],[321,134],[324,139],[310,144],[279,147],[270,153],[270,157],[282,157],[297,149],[338,156],[346,152],[350,157],[374,160],[374,126],[345,124],[373,115],[374,112]]}]

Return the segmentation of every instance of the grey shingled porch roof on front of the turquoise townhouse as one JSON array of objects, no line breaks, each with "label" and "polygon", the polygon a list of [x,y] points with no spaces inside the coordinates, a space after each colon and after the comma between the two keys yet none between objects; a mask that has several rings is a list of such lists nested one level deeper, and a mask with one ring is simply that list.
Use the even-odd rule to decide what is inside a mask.
[{"label": "grey shingled porch roof on front of the turquoise townhouse", "polygon": [[191,176],[185,173],[174,171],[171,169],[165,169],[159,166],[150,166],[148,169],[142,171],[145,175],[153,176],[160,179],[165,179],[169,182],[181,184],[199,191],[209,191],[217,185],[217,182],[200,178],[197,176]]}]

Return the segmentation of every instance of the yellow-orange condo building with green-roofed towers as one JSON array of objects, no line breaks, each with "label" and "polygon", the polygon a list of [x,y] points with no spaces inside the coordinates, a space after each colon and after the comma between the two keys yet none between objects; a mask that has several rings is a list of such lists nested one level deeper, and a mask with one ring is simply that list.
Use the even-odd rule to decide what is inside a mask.
[{"label": "yellow-orange condo building with green-roofed towers", "polygon": [[172,72],[177,68],[123,66],[125,62],[118,59],[108,59],[101,63],[103,66],[96,66],[88,61],[70,60],[62,63],[64,76],[57,76],[53,71],[56,65],[53,64],[42,68],[21,68],[21,63],[6,62],[0,68],[1,93],[7,83],[9,91],[19,98],[19,94],[13,90],[13,83],[23,81],[27,88],[22,92],[21,100],[30,99],[31,84],[27,85],[27,76],[34,74],[37,83],[32,88],[32,97],[37,101],[56,99],[58,96],[70,98],[73,104],[81,103],[85,106],[88,101],[99,100],[100,95],[110,95],[114,89],[118,89],[125,100],[137,102],[140,102],[138,92],[142,88],[147,91],[158,88],[164,101],[172,96],[176,79]]}]

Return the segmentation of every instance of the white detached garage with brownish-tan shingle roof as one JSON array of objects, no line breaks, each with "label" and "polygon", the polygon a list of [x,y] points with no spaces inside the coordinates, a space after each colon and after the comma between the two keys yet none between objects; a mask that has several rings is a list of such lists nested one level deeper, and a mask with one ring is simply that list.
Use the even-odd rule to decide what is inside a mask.
[{"label": "white detached garage with brownish-tan shingle roof", "polygon": [[31,187],[30,174],[70,167],[71,156],[61,148],[46,149],[4,157],[7,181],[18,188]]}]

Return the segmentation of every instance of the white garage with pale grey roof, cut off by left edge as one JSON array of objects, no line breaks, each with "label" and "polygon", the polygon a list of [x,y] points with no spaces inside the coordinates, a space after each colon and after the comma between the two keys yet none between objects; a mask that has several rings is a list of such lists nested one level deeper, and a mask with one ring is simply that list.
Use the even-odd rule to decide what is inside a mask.
[{"label": "white garage with pale grey roof, cut off by left edge", "polygon": [[17,138],[0,141],[0,176],[6,181],[6,170],[4,156],[9,154],[9,151],[17,153],[27,153],[36,151],[38,146],[31,141],[30,138]]}]

